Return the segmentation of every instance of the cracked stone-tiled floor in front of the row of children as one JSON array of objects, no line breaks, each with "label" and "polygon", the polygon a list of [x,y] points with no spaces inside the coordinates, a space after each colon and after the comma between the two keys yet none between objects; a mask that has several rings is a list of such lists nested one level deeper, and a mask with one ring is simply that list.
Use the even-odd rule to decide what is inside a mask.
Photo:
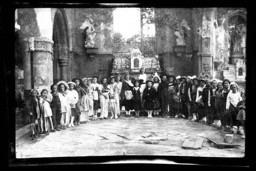
[{"label": "cracked stone-tiled floor in front of the row of children", "polygon": [[[31,140],[29,127],[16,132],[16,157],[73,157],[109,155],[162,155],[201,157],[243,157],[245,139],[236,134],[233,140],[241,147],[211,147],[205,137],[224,136],[226,132],[205,124],[178,118],[125,118],[92,121]],[[18,134],[18,135],[17,135]],[[167,138],[159,144],[145,144],[147,137]],[[203,139],[199,150],[185,150],[185,139]]]}]

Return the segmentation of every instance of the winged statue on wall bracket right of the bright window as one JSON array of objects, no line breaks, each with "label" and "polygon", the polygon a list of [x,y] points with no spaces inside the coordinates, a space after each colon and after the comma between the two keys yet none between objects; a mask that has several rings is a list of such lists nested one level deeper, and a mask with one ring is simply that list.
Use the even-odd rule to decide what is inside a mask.
[{"label": "winged statue on wall bracket right of the bright window", "polygon": [[191,30],[188,27],[187,21],[186,20],[182,20],[180,23],[178,23],[176,25],[176,27],[174,27],[174,35],[176,36],[176,43],[177,45],[183,45],[185,46],[185,40],[184,40],[184,34],[188,34],[187,30]]}]

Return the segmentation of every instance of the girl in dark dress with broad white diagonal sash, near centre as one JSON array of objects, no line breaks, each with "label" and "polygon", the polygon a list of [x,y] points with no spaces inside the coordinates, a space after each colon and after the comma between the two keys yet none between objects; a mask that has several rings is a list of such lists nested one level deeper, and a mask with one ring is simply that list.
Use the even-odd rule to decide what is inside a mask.
[{"label": "girl in dark dress with broad white diagonal sash, near centre", "polygon": [[132,88],[134,87],[134,84],[131,83],[130,80],[130,75],[127,72],[124,76],[125,81],[122,82],[122,89],[121,89],[121,97],[124,100],[124,105],[125,105],[125,113],[126,113],[126,118],[130,118],[130,112],[132,109],[131,106],[131,98],[132,98]]}]

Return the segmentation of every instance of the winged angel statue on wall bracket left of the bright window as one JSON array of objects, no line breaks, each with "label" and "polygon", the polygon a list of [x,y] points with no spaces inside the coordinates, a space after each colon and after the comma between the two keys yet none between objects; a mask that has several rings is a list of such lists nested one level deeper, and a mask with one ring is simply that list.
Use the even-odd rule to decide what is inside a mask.
[{"label": "winged angel statue on wall bracket left of the bright window", "polygon": [[79,27],[79,29],[84,29],[82,32],[83,38],[85,39],[84,47],[93,47],[95,44],[93,38],[96,36],[96,33],[90,21],[92,20],[86,19],[83,25]]}]

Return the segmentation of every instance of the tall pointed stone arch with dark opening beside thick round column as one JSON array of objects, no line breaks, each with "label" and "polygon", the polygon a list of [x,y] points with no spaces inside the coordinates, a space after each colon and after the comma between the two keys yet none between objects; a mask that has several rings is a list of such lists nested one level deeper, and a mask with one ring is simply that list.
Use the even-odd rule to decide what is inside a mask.
[{"label": "tall pointed stone arch with dark opening beside thick round column", "polygon": [[67,81],[68,61],[70,61],[70,44],[68,20],[64,9],[56,9],[53,19],[53,80]]}]

